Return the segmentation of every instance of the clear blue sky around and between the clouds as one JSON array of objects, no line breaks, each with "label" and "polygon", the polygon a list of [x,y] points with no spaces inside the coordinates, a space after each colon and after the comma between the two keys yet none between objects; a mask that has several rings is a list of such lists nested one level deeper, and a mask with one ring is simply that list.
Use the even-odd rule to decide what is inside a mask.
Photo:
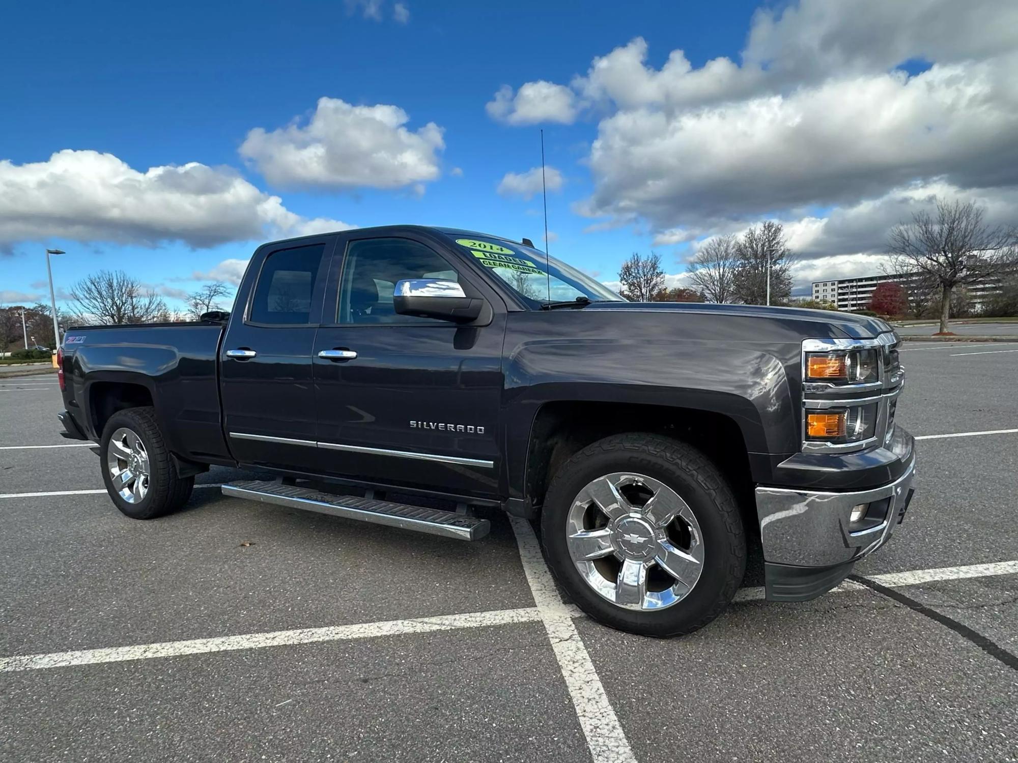
[{"label": "clear blue sky around and between the clouds", "polygon": [[[710,6],[710,7],[709,7]],[[634,2],[406,3],[398,23],[391,6],[382,20],[342,2],[229,4],[20,3],[5,11],[0,47],[0,158],[42,162],[61,149],[110,153],[136,170],[201,162],[228,165],[259,188],[278,192],[287,209],[358,226],[437,223],[539,240],[540,198],[496,193],[507,172],[540,163],[540,125],[498,124],[485,104],[504,83],[568,80],[595,55],[643,36],[661,57],[683,47],[699,62],[735,55],[752,3],[731,3],[724,18],[711,4]],[[352,11],[352,12],[351,12]],[[351,104],[394,104],[408,127],[445,128],[442,177],[423,194],[372,188],[339,192],[278,190],[245,168],[237,154],[247,131],[272,130],[305,115],[323,96]],[[597,125],[545,126],[546,160],[566,178],[549,197],[556,253],[614,278],[647,236],[620,229],[581,233],[589,220],[569,209],[589,192],[580,164]],[[454,168],[462,176],[450,176]],[[42,249],[63,248],[55,282],[69,289],[88,273],[122,268],[147,283],[190,290],[171,279],[208,272],[228,257],[246,257],[256,242],[192,250],[59,238],[14,245],[0,259],[0,289],[44,290]],[[669,256],[667,252],[663,252]],[[677,267],[677,266],[676,266]],[[673,268],[674,270],[674,268]]]}]

